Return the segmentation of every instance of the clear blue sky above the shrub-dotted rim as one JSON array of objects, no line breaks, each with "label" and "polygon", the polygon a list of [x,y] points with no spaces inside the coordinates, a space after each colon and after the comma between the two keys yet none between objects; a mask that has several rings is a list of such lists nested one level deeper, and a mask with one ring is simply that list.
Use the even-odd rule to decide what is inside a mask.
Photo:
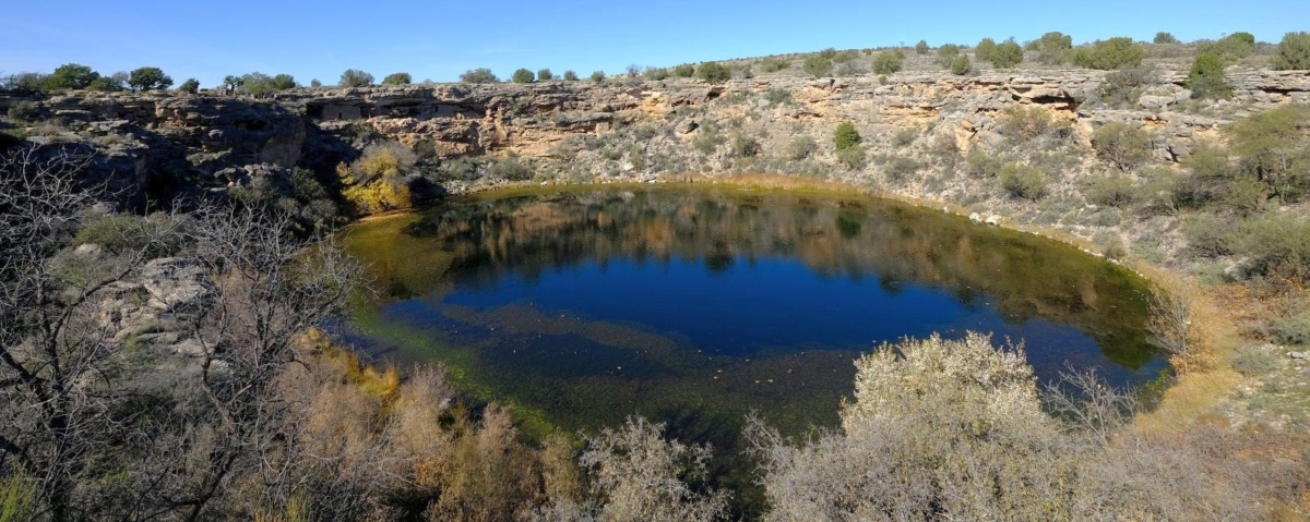
[{"label": "clear blue sky above the shrub-dotted rim", "polygon": [[155,65],[204,86],[255,71],[335,84],[347,68],[415,81],[453,81],[477,67],[502,78],[519,67],[587,76],[920,39],[1023,42],[1051,30],[1076,43],[1161,30],[1182,41],[1248,31],[1277,42],[1310,30],[1307,0],[0,0],[0,75]]}]

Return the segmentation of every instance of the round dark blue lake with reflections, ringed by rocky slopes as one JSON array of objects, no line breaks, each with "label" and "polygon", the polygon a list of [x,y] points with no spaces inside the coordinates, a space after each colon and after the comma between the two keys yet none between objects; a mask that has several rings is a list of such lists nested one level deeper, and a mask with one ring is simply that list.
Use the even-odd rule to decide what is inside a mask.
[{"label": "round dark blue lake with reflections, ringed by rocky slopes", "polygon": [[1043,379],[1159,377],[1145,287],[1066,245],[892,201],[703,187],[453,198],[345,233],[375,277],[347,332],[440,361],[525,425],[630,413],[731,450],[748,411],[834,426],[853,360],[904,336],[992,332]]}]

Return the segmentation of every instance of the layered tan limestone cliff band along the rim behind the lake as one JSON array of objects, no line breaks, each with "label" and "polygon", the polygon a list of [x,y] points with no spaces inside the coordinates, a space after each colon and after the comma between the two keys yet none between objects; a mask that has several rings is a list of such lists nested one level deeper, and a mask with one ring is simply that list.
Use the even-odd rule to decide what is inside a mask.
[{"label": "layered tan limestone cliff band along the rim behind the lake", "polygon": [[[1310,103],[1305,71],[1230,73],[1233,107]],[[394,139],[439,158],[512,154],[567,160],[627,126],[667,130],[689,143],[706,124],[769,135],[764,150],[781,150],[783,137],[808,133],[825,143],[840,122],[861,132],[933,130],[959,150],[994,148],[1002,114],[1036,107],[1069,122],[1074,139],[1090,147],[1091,132],[1110,122],[1149,128],[1155,154],[1176,161],[1196,139],[1213,137],[1226,119],[1175,110],[1191,93],[1184,75],[1163,72],[1129,109],[1096,99],[1106,73],[1041,69],[954,76],[946,72],[878,77],[773,77],[707,85],[694,80],[590,81],[495,85],[415,85],[367,89],[300,89],[271,99],[161,93],[73,93],[41,99],[0,97],[0,114],[26,102],[37,119],[54,120],[34,141],[90,143],[98,169],[121,187],[141,195],[179,184],[217,188],[241,183],[233,169],[265,164],[283,169],[308,165],[330,179],[337,162],[358,156],[362,135]],[[787,102],[770,102],[778,93]],[[727,123],[724,123],[727,122]],[[878,145],[870,145],[878,147]],[[650,148],[646,148],[651,153]],[[879,152],[879,150],[872,150]],[[645,161],[625,160],[641,171]],[[572,165],[578,167],[578,165]],[[685,165],[710,170],[713,161]],[[105,174],[107,173],[107,174]],[[241,178],[241,177],[236,177]]]}]

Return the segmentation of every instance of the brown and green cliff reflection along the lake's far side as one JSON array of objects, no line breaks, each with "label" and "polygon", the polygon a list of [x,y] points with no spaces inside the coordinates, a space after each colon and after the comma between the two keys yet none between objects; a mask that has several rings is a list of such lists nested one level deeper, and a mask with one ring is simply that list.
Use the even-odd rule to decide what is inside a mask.
[{"label": "brown and green cliff reflection along the lake's far side", "polygon": [[453,254],[453,273],[489,284],[618,258],[698,260],[709,270],[795,258],[828,276],[876,277],[892,292],[901,283],[941,288],[964,306],[989,296],[1007,321],[1073,324],[1129,368],[1151,352],[1141,328],[1145,304],[1124,271],[1056,242],[883,201],[667,190],[555,194],[452,203],[406,234],[435,239]]}]

